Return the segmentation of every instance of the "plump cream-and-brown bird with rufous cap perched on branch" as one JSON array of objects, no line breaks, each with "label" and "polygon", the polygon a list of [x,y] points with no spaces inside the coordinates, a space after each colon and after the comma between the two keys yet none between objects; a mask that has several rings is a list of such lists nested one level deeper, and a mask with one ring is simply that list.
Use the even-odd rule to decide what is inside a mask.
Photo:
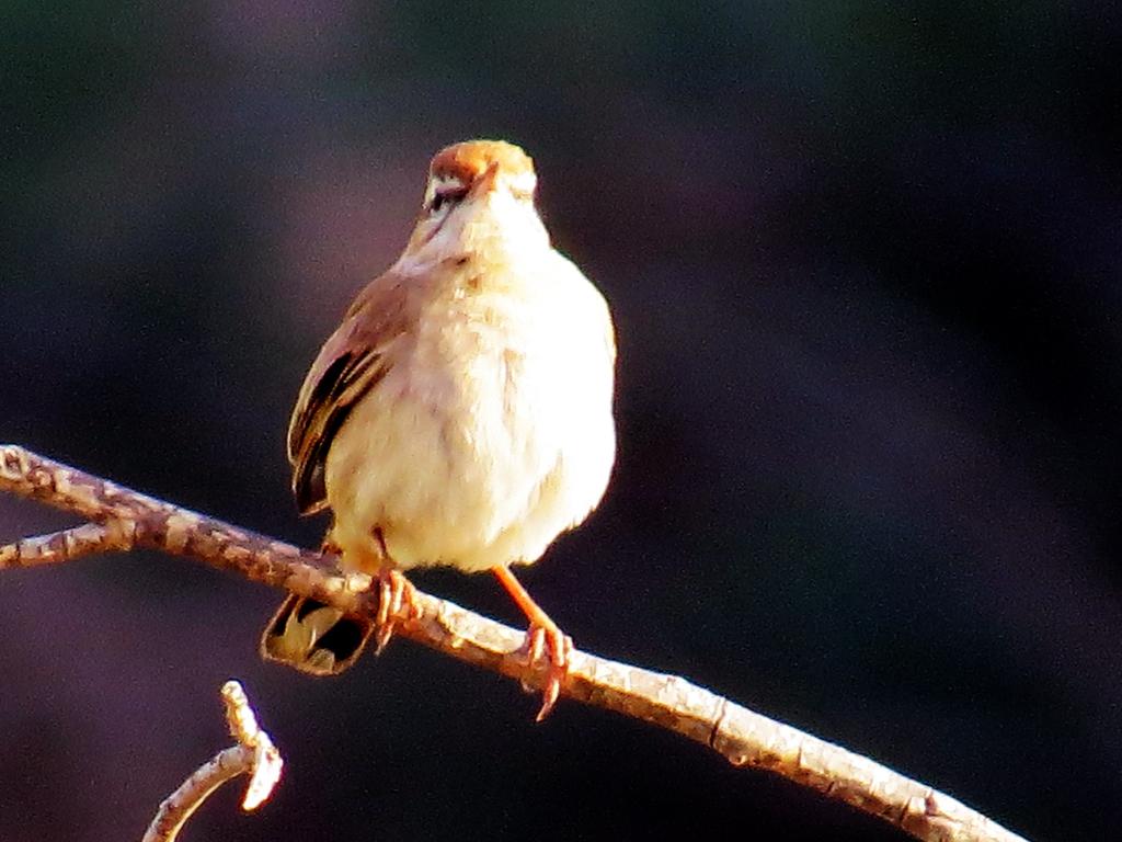
[{"label": "plump cream-and-brown bird with rufous cap perched on branch", "polygon": [[548,663],[544,719],[572,641],[512,567],[539,560],[600,503],[616,454],[616,341],[596,285],[551,242],[532,158],[504,140],[448,146],[397,262],[355,299],[312,364],[288,427],[303,514],[380,589],[374,622],[289,595],[266,658],[314,675],[380,651],[413,611],[404,573],[493,573]]}]

